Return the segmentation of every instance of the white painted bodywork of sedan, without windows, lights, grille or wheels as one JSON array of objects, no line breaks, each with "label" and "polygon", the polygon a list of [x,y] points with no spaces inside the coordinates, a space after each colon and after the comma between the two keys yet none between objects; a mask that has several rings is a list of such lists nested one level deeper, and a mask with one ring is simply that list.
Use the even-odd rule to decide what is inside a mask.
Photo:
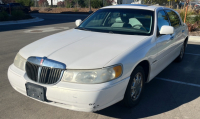
[{"label": "white painted bodywork of sedan, without windows, lights, grille or wheels", "polygon": [[[106,8],[148,9],[157,13],[168,9],[159,6],[120,5]],[[152,80],[180,53],[184,40],[188,37],[187,26],[174,30],[174,34],[157,37],[157,14],[154,33],[151,36],[121,35],[72,29],[35,41],[19,51],[27,59],[30,56],[48,57],[65,63],[66,69],[98,69],[122,64],[121,77],[101,84],[76,84],[58,82],[55,85],[39,84],[30,80],[25,71],[9,67],[8,78],[14,89],[26,95],[25,83],[31,82],[47,88],[50,105],[93,112],[106,108],[123,99],[130,75],[142,61],[149,63],[147,81]],[[181,21],[182,22],[182,21]],[[180,33],[181,30],[185,30]],[[173,39],[171,37],[174,36]],[[94,40],[95,39],[95,40]]]}]

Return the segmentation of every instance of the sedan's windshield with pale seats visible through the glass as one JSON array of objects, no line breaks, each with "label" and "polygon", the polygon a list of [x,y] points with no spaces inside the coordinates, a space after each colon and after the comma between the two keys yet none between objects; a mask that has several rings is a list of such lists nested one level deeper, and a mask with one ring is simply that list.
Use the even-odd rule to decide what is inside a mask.
[{"label": "sedan's windshield with pale seats visible through the glass", "polygon": [[152,35],[154,12],[139,9],[100,9],[76,29],[129,35]]}]

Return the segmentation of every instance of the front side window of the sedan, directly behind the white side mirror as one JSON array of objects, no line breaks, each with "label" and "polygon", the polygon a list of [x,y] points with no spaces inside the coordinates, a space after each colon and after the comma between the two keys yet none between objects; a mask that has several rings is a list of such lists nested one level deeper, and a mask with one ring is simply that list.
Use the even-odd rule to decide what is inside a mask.
[{"label": "front side window of the sedan, directly behind the white side mirror", "polygon": [[166,13],[162,10],[159,11],[157,15],[157,36],[160,35],[160,30],[163,25],[169,26],[169,20]]}]

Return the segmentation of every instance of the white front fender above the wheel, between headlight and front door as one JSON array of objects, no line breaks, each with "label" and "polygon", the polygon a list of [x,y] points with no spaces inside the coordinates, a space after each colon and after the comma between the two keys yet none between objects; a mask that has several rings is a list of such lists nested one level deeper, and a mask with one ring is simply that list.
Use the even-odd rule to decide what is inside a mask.
[{"label": "white front fender above the wheel, between headlight and front door", "polygon": [[150,36],[140,42],[135,47],[130,47],[127,51],[121,53],[109,63],[105,65],[111,66],[114,64],[123,65],[123,75],[117,81],[129,77],[134,68],[142,61],[146,60],[149,62],[149,70],[155,69],[153,62],[156,60],[156,42],[154,36]]}]

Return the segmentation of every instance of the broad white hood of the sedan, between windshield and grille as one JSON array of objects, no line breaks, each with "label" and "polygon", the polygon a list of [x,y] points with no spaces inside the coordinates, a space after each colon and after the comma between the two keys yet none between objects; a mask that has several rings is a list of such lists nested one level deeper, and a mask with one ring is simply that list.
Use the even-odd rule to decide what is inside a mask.
[{"label": "broad white hood of the sedan, between windshield and grille", "polygon": [[145,38],[72,29],[35,41],[22,48],[20,54],[26,59],[47,57],[65,63],[67,69],[95,69]]}]

